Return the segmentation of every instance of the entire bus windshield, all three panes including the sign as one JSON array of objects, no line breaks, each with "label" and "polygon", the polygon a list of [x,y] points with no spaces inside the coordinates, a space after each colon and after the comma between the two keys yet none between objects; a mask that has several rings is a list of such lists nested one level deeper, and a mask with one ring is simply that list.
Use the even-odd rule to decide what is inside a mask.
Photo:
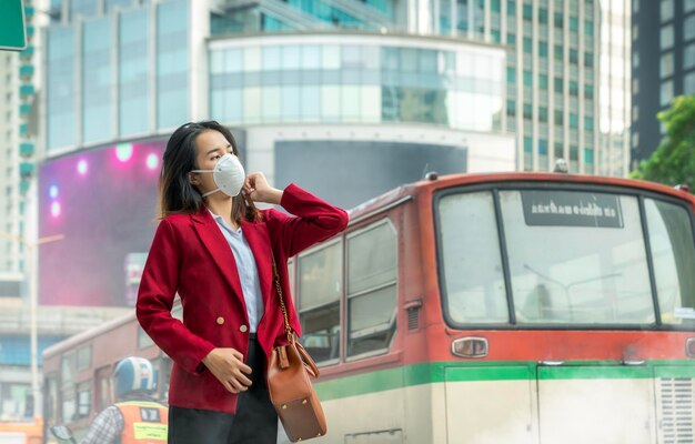
[{"label": "entire bus windshield, all three panes including the sign", "polygon": [[530,325],[695,326],[695,244],[683,205],[563,189],[445,192],[436,202],[454,326],[510,323],[512,313]]}]

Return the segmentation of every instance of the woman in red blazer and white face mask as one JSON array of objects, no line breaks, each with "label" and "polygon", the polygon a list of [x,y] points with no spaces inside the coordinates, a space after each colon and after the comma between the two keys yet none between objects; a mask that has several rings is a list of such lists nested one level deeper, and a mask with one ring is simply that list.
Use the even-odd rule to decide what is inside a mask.
[{"label": "woman in red blazer and white face mask", "polygon": [[[288,258],[345,229],[348,214],[263,173],[244,175],[231,132],[188,123],[167,143],[162,220],[138,293],[138,321],[172,360],[169,443],[275,443],[265,386],[273,345],[286,342],[273,285],[278,272],[290,325]],[[253,202],[280,204],[258,211]],[[174,295],[183,322],[171,316]]]}]

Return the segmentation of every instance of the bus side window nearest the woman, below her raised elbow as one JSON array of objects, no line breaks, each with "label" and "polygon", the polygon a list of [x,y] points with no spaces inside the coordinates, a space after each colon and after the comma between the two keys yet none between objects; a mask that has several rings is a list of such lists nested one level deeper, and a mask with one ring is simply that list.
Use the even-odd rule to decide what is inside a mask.
[{"label": "bus side window nearest the woman, below her raised elbow", "polygon": [[343,249],[339,241],[299,258],[302,345],[315,362],[340,359]]}]

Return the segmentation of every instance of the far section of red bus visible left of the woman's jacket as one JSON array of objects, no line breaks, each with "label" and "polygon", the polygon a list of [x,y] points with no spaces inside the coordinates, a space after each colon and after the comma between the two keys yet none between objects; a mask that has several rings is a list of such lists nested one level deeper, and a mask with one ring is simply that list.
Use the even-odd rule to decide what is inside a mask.
[{"label": "far section of red bus visible left of the woman's jacket", "polygon": [[[181,319],[177,303],[172,314]],[[43,435],[53,425],[67,425],[79,442],[91,421],[115,400],[111,376],[124,357],[150,360],[157,377],[157,401],[167,404],[171,360],[138,324],[135,312],[78,333],[43,351]]]}]

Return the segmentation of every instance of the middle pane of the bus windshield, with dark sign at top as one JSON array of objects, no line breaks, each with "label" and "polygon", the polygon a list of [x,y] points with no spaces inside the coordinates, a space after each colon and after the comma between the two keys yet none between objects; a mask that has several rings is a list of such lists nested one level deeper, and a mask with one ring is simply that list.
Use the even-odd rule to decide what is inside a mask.
[{"label": "middle pane of the bus windshield, with dark sign at top", "polygon": [[524,190],[500,201],[518,323],[655,322],[637,198]]}]

